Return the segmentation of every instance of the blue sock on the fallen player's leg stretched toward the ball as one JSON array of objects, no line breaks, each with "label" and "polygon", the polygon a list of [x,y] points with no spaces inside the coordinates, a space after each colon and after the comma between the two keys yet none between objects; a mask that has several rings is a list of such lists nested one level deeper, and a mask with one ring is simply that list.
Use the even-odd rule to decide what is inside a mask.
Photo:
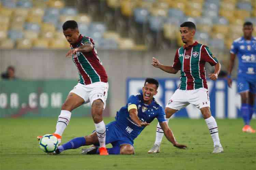
[{"label": "blue sock on the fallen player's leg stretched toward the ball", "polygon": [[58,149],[60,152],[68,150],[68,149],[76,149],[81,146],[84,146],[85,142],[86,142],[86,140],[84,137],[74,138],[74,139],[68,141],[67,143],[64,143],[63,145],[58,146]]}]

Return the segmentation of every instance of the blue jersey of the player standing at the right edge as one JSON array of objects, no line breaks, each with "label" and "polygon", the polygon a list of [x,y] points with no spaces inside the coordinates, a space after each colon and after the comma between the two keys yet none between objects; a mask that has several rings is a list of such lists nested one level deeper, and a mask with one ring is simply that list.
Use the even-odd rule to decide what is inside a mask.
[{"label": "blue jersey of the player standing at the right edge", "polygon": [[256,38],[246,40],[240,37],[234,40],[230,53],[238,57],[238,74],[253,75],[256,74]]}]

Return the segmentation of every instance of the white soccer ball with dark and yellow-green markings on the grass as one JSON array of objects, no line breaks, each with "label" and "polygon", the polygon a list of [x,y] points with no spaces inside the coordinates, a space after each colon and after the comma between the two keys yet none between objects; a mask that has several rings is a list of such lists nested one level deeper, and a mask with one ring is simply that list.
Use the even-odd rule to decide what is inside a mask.
[{"label": "white soccer ball with dark and yellow-green markings on the grass", "polygon": [[51,134],[44,135],[39,141],[40,149],[46,153],[55,151],[58,145],[58,139]]}]

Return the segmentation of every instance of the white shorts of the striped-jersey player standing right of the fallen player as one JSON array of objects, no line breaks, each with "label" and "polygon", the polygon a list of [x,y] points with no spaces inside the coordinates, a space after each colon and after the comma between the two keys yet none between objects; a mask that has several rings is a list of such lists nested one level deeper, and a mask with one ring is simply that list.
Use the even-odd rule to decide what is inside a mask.
[{"label": "white shorts of the striped-jersey player standing right of the fallen player", "polygon": [[193,104],[199,109],[203,107],[210,107],[208,90],[205,88],[195,90],[177,89],[168,101],[166,107],[179,111],[189,104]]}]

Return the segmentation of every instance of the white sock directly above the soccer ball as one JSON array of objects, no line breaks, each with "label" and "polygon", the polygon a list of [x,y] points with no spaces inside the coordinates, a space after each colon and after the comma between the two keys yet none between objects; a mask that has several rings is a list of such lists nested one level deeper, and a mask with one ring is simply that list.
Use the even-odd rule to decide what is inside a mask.
[{"label": "white sock directly above the soccer ball", "polygon": [[62,136],[64,130],[67,128],[71,117],[71,112],[61,110],[56,124],[55,134]]}]

